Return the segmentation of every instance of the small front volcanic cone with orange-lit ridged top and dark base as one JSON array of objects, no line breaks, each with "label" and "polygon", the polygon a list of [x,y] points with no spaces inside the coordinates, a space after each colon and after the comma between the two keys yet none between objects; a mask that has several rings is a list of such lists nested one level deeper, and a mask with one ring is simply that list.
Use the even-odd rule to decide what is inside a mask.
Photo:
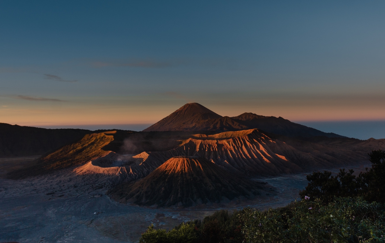
[{"label": "small front volcanic cone with orange-lit ridged top and dark base", "polygon": [[261,185],[199,157],[170,158],[149,175],[109,191],[114,200],[138,205],[194,206],[259,195]]}]

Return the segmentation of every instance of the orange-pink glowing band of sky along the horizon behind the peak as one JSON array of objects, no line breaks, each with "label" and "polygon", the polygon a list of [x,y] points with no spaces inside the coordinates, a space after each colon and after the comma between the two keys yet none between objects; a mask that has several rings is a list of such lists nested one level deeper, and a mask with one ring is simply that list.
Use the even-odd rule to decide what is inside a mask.
[{"label": "orange-pink glowing band of sky along the horizon behind the peak", "polygon": [[[385,120],[385,108],[379,107],[229,107],[220,105],[206,106],[222,116],[234,117],[244,112],[257,115],[283,117],[291,121],[358,121]],[[65,125],[118,125],[153,124],[177,110],[175,105],[149,106],[140,109],[17,109],[0,108],[2,123],[22,126],[65,126]]]}]

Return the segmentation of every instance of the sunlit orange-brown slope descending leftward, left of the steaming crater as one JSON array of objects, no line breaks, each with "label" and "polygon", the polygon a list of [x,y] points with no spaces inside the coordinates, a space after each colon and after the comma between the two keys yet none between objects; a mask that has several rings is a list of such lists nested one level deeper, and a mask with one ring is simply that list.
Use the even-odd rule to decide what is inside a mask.
[{"label": "sunlit orange-brown slope descending leftward, left of the steaming crater", "polygon": [[113,136],[106,135],[105,133],[87,134],[80,141],[66,145],[54,153],[38,159],[27,168],[8,173],[8,178],[19,179],[51,173],[74,165],[81,165],[87,161],[104,156],[110,151],[104,151],[102,148],[114,140]]}]

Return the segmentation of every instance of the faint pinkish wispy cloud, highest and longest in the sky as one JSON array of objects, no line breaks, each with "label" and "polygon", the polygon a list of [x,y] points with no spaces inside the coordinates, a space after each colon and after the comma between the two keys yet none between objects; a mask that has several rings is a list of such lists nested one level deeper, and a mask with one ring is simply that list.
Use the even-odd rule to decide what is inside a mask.
[{"label": "faint pinkish wispy cloud, highest and longest in the sky", "polygon": [[166,68],[171,67],[171,62],[157,62],[152,60],[131,61],[131,62],[92,62],[93,67],[137,67],[137,68]]}]

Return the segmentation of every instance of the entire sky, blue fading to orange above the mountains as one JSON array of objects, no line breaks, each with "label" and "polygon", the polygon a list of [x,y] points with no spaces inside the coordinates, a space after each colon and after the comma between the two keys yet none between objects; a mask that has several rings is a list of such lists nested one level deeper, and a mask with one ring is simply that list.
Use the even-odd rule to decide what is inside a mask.
[{"label": "entire sky, blue fading to orange above the mountains", "polygon": [[384,11],[376,0],[0,1],[0,122],[138,128],[190,102],[230,117],[385,121]]}]

